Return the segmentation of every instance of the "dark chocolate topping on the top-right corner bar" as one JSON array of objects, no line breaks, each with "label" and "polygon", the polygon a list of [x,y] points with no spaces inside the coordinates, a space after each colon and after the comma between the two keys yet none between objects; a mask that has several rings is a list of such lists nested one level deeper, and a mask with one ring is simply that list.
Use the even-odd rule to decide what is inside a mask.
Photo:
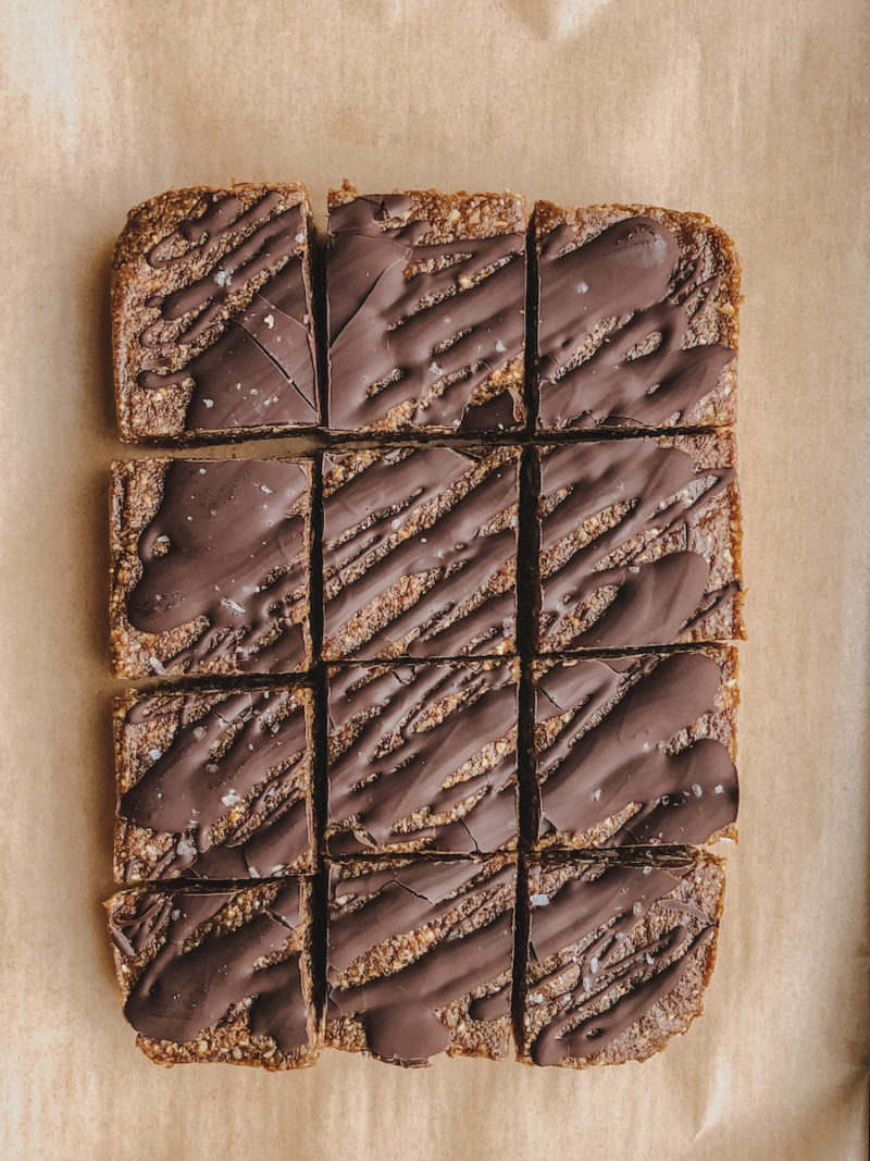
[{"label": "dark chocolate topping on the top-right corner bar", "polygon": [[[734,356],[718,342],[686,346],[717,280],[702,280],[697,259],[681,269],[676,238],[652,218],[628,218],[567,248],[574,240],[573,230],[559,225],[538,258],[541,425],[679,420],[713,390]],[[609,320],[616,327],[578,361]]]}]

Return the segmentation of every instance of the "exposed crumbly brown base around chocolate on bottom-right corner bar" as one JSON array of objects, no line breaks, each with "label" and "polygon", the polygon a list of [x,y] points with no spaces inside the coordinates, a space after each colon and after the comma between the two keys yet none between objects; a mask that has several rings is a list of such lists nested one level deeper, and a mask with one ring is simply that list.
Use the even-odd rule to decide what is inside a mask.
[{"label": "exposed crumbly brown base around chocolate on bottom-right corner bar", "polygon": [[[691,952],[688,966],[676,987],[657,1000],[639,1019],[608,1044],[606,1048],[589,1057],[566,1058],[552,1067],[583,1069],[601,1065],[621,1065],[629,1060],[643,1062],[661,1052],[673,1037],[687,1032],[693,1021],[702,1015],[704,991],[716,966],[718,924],[722,920],[725,897],[725,860],[716,854],[703,853],[675,889],[668,896],[662,897],[682,897],[695,903],[716,923],[712,938]],[[623,942],[626,954],[641,942],[646,942],[648,936],[665,933],[673,926],[673,917],[669,917],[667,911],[662,914],[662,908],[655,903],[647,915],[632,928],[629,938]],[[580,949],[585,942],[567,945],[560,952],[544,960],[543,965],[537,968],[527,968],[524,993],[528,993],[535,986],[536,980],[552,968],[565,951]],[[548,968],[545,965],[550,967]],[[553,994],[558,994],[558,991],[554,990]],[[524,1011],[528,1016],[525,1001]],[[524,1043],[517,1053],[517,1060],[532,1067],[538,1067],[534,1063],[530,1054],[537,1030],[535,1022],[523,1024]]]}]

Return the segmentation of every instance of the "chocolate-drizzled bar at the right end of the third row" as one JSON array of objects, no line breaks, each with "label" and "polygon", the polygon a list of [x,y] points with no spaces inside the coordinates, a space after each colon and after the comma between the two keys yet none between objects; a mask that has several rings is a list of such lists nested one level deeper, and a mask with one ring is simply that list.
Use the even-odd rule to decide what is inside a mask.
[{"label": "chocolate-drizzled bar at the right end of the third row", "polygon": [[735,649],[535,668],[539,846],[734,836]]}]

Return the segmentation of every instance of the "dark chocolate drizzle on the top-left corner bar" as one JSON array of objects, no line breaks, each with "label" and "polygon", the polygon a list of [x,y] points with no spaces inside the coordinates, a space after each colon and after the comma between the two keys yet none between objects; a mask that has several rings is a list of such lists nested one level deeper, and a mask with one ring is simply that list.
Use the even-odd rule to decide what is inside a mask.
[{"label": "dark chocolate drizzle on the top-left corner bar", "polygon": [[[193,380],[188,431],[318,421],[305,221],[302,205],[281,204],[275,190],[247,210],[215,195],[147,255],[158,269],[210,262],[205,276],[147,300],[160,315],[139,337],[150,352],[139,387]],[[224,320],[230,300],[238,307]]]}]

